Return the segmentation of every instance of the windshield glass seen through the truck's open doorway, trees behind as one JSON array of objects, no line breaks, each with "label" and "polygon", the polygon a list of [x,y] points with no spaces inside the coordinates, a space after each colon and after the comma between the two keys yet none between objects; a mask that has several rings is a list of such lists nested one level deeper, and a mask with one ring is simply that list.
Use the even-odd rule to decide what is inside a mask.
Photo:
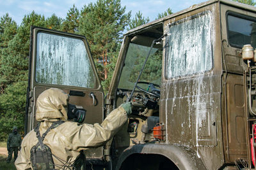
[{"label": "windshield glass seen through the truck's open doorway, trees behind", "polygon": [[[149,46],[131,43],[127,51],[125,65],[119,81],[119,89],[132,90],[136,82],[143,63],[150,50]],[[162,50],[152,48],[147,64],[141,74],[139,81],[147,81],[160,85],[162,73]],[[143,87],[143,85],[141,85]]]}]

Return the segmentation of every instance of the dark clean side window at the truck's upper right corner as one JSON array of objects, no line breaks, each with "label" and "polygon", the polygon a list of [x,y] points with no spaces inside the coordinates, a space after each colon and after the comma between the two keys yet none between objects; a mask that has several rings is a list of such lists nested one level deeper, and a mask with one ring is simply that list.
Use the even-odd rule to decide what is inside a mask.
[{"label": "dark clean side window at the truck's upper right corner", "polygon": [[243,45],[250,44],[256,47],[256,23],[255,19],[228,13],[228,42],[231,46],[242,48]]}]

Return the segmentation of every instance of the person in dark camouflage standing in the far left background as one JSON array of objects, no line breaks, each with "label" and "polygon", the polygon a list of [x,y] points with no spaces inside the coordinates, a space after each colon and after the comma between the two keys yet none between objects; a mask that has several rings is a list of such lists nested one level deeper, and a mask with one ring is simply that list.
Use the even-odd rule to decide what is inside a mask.
[{"label": "person in dark camouflage standing in the far left background", "polygon": [[8,150],[8,157],[6,162],[10,163],[12,160],[12,153],[14,152],[14,161],[17,159],[18,150],[20,148],[21,137],[18,132],[17,127],[13,127],[12,133],[9,134],[7,140],[7,150]]}]

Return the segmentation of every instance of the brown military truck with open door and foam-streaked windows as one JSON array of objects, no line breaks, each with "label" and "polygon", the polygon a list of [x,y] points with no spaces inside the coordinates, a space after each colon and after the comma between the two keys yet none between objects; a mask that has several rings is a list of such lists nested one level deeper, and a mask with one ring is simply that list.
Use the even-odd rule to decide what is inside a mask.
[{"label": "brown military truck with open door and foam-streaked windows", "polygon": [[212,0],[132,29],[106,96],[84,36],[32,27],[26,132],[58,87],[88,124],[132,103],[122,130],[84,151],[88,169],[254,169],[255,22],[255,7]]}]

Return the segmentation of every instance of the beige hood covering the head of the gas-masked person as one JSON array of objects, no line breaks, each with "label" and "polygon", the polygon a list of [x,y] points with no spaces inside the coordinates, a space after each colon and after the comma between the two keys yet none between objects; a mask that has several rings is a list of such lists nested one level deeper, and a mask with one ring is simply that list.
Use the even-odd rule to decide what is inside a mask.
[{"label": "beige hood covering the head of the gas-masked person", "polygon": [[36,120],[67,120],[69,96],[63,90],[51,88],[38,96],[36,101]]}]

